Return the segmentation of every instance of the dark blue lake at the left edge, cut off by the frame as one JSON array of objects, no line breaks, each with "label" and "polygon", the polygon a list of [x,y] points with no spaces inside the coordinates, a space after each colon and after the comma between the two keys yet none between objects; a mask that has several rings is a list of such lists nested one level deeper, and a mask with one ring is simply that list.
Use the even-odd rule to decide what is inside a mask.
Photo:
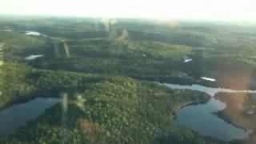
[{"label": "dark blue lake at the left edge, cut off by the frame", "polygon": [[29,102],[10,106],[0,111],[0,135],[10,134],[27,122],[38,118],[46,108],[61,102],[61,98],[34,98]]}]

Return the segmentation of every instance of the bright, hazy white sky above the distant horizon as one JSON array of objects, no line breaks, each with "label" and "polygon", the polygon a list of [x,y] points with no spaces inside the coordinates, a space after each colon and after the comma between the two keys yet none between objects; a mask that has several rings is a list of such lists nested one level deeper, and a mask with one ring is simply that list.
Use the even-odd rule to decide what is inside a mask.
[{"label": "bright, hazy white sky above the distant horizon", "polygon": [[256,20],[256,0],[0,0],[0,14]]}]

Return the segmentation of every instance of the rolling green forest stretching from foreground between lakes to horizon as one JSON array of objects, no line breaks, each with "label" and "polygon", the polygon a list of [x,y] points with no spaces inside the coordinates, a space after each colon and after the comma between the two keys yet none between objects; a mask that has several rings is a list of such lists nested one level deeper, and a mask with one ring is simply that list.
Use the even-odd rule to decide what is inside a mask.
[{"label": "rolling green forest stretching from foreground between lakes to horizon", "polygon": [[226,143],[174,123],[180,106],[209,94],[163,83],[256,90],[255,38],[250,23],[1,18],[0,110],[62,102],[0,143]]}]

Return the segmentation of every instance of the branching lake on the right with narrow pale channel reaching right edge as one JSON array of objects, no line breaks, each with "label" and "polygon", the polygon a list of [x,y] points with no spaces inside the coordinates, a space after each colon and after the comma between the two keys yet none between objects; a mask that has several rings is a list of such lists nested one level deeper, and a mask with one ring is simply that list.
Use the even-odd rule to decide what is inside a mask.
[{"label": "branching lake on the right with narrow pale channel reaching right edge", "polygon": [[226,103],[220,102],[218,99],[214,98],[214,95],[218,92],[256,93],[256,90],[230,90],[222,88],[211,88],[200,85],[165,85],[173,89],[198,90],[210,94],[213,97],[210,98],[208,102],[189,104],[180,108],[178,110],[178,118],[174,120],[175,123],[182,126],[188,126],[194,130],[197,130],[202,135],[218,138],[223,141],[249,137],[248,131],[235,127],[229,122],[224,121],[222,118],[218,118],[218,116],[214,114],[226,108]]}]

